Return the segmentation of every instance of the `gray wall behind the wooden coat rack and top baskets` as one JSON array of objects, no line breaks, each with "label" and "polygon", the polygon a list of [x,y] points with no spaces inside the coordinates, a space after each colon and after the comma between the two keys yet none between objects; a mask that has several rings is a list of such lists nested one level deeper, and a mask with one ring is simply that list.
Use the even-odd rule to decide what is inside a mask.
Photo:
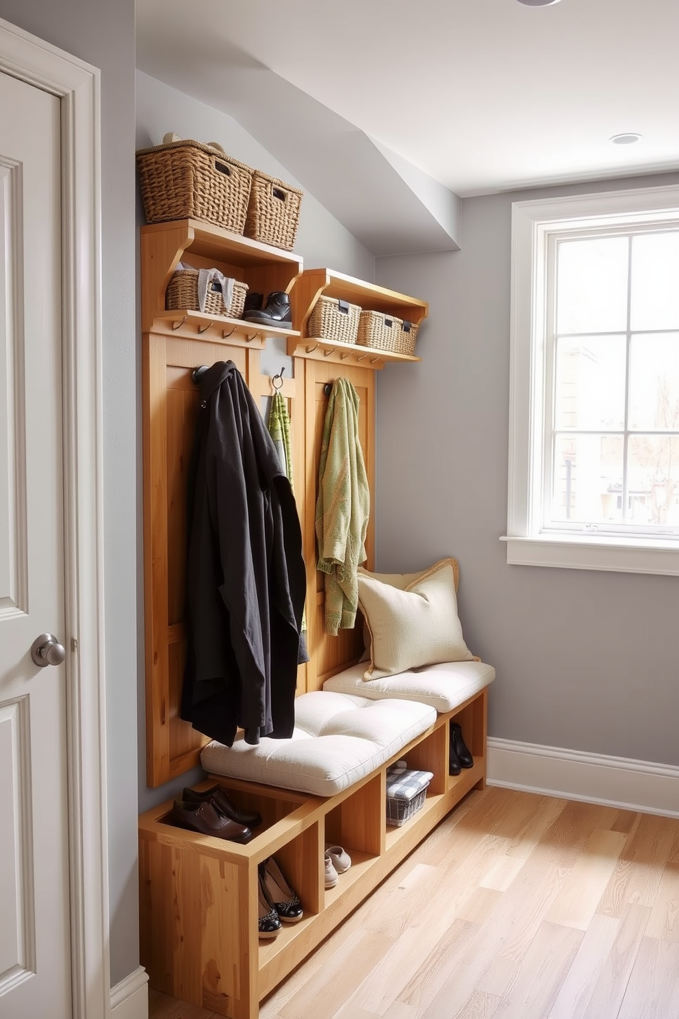
[{"label": "gray wall behind the wooden coat rack and top baskets", "polygon": [[[239,159],[272,176],[278,176],[291,184],[304,187],[303,181],[296,180],[251,135],[248,135],[232,117],[207,106],[196,99],[170,88],[156,78],[136,71],[136,147],[159,145],[167,131],[174,131],[180,138],[193,138],[205,142],[219,142],[230,156]],[[144,211],[137,196],[137,222],[144,223]],[[302,256],[307,269],[329,267],[360,279],[375,278],[375,257],[360,245],[331,213],[305,192],[301,204],[299,230],[295,242],[295,252]],[[138,286],[138,284],[137,284]],[[137,322],[138,332],[138,322]],[[139,353],[140,357],[140,353]],[[292,372],[292,361],[287,357],[285,341],[269,340],[262,354],[262,370],[274,375],[285,367],[288,377]],[[140,370],[139,370],[140,377]],[[139,420],[137,418],[137,420]],[[140,425],[139,425],[140,427]],[[142,489],[140,449],[137,459],[137,483]],[[142,535],[142,505],[138,500],[138,534]],[[140,559],[140,551],[139,551]],[[142,576],[137,592],[143,603],[144,589]],[[182,775],[159,789],[146,786],[146,731],[144,706],[144,644],[143,620],[139,613],[139,687],[138,687],[138,773],[139,810],[149,810],[157,803],[169,799],[182,786],[204,777],[201,770]]]}]

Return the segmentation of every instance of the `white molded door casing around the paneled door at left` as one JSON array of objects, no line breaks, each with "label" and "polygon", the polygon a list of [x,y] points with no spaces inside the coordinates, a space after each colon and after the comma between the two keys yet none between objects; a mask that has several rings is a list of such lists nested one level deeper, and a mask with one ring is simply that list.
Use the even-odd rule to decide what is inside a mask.
[{"label": "white molded door casing around the paneled door at left", "polygon": [[0,71],[61,107],[63,463],[73,1019],[110,1015],[102,499],[100,71],[0,19]]}]

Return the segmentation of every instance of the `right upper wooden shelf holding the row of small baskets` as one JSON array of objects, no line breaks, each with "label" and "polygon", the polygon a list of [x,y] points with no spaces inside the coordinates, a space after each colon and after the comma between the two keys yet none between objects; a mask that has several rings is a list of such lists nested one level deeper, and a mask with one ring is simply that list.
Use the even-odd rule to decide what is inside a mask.
[{"label": "right upper wooden shelf holding the row of small baskets", "polygon": [[[379,368],[382,368],[387,361],[420,360],[405,354],[392,354],[371,346],[354,346],[331,339],[307,337],[306,323],[321,296],[339,298],[341,301],[359,305],[366,311],[385,312],[387,315],[407,320],[417,326],[429,314],[428,303],[419,301],[417,298],[409,298],[405,293],[388,290],[384,286],[378,286],[377,283],[366,283],[362,279],[355,279],[353,276],[336,272],[334,269],[306,269],[297,278],[290,293],[292,324],[299,331],[301,339],[298,341],[288,340],[288,354],[309,358],[332,356],[333,360],[341,361],[349,356],[347,352],[359,360],[362,360],[362,356],[366,354],[373,359],[373,367]],[[316,347],[314,344],[317,344]],[[334,353],[330,351],[330,347],[335,348]],[[370,361],[366,363],[370,364]]]}]

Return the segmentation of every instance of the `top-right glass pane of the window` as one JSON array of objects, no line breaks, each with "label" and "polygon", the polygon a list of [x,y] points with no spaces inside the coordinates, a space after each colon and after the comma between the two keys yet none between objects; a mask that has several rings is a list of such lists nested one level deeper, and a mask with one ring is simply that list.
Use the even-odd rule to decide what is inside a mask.
[{"label": "top-right glass pane of the window", "polygon": [[679,329],[679,233],[632,238],[632,329]]}]

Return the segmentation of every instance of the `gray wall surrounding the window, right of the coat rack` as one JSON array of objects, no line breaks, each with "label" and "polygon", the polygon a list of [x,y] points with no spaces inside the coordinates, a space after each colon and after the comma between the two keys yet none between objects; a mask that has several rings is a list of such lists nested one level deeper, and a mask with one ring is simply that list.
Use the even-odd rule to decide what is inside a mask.
[{"label": "gray wall surrounding the window, right of the coat rack", "polygon": [[491,736],[679,764],[679,579],[507,566],[499,540],[511,202],[678,179],[465,199],[461,251],[378,259],[378,282],[430,302],[421,364],[378,380],[378,567],[458,557],[465,639],[497,669]]}]

